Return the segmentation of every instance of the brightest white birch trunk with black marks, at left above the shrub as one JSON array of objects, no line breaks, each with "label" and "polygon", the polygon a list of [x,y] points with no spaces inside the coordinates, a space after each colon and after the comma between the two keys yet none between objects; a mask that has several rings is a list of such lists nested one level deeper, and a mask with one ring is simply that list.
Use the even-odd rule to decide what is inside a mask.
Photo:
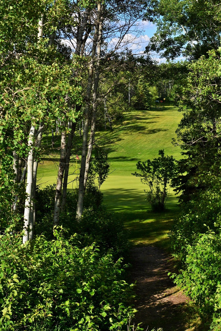
[{"label": "brightest white birch trunk with black marks, at left above the shrub", "polygon": [[34,155],[34,135],[35,127],[32,124],[29,137],[28,137],[28,146],[30,151],[27,158],[27,180],[26,180],[26,199],[25,199],[25,208],[24,208],[24,235],[22,238],[23,244],[29,240],[29,230],[32,231],[33,225],[33,206],[31,201],[32,194],[32,184],[33,184],[33,155]]}]

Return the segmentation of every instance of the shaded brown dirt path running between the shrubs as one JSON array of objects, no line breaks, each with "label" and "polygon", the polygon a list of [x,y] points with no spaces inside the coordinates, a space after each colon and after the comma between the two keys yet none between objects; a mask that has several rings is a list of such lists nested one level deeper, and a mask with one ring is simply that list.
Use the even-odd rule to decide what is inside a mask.
[{"label": "shaded brown dirt path running between the shrubs", "polygon": [[131,262],[131,280],[137,280],[135,324],[142,322],[144,330],[187,330],[183,307],[188,299],[167,276],[172,271],[169,255],[156,247],[133,247]]}]

